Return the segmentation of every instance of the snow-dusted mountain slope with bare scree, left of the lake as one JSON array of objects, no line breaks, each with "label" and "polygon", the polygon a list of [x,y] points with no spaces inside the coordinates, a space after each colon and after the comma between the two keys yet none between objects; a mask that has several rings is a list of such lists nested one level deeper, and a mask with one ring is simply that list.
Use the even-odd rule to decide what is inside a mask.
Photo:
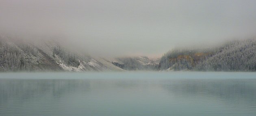
[{"label": "snow-dusted mountain slope with bare scree, left of the lake", "polygon": [[54,41],[29,43],[0,36],[0,71],[122,71],[108,61],[68,51]]}]

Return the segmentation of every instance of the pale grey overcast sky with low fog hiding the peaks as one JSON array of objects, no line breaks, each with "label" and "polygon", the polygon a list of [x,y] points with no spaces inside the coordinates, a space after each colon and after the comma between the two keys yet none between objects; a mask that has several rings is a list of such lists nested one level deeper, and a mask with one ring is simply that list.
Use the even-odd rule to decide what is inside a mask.
[{"label": "pale grey overcast sky with low fog hiding the peaks", "polygon": [[61,38],[93,55],[162,55],[171,48],[256,36],[256,0],[0,0],[0,30]]}]

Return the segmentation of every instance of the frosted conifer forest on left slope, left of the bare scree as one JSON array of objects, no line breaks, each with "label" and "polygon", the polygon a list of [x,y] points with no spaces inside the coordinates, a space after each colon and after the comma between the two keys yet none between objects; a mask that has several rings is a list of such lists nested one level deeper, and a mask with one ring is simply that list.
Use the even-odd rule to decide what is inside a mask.
[{"label": "frosted conifer forest on left slope, left of the bare scree", "polygon": [[[69,64],[71,64],[72,61],[76,61],[74,60],[73,55],[68,55],[68,57],[63,57],[63,59],[68,59]],[[0,71],[35,70],[60,71],[63,69],[56,63],[56,61],[54,61],[54,59],[47,55],[43,50],[37,48],[37,46],[22,39],[0,36]]]}]

